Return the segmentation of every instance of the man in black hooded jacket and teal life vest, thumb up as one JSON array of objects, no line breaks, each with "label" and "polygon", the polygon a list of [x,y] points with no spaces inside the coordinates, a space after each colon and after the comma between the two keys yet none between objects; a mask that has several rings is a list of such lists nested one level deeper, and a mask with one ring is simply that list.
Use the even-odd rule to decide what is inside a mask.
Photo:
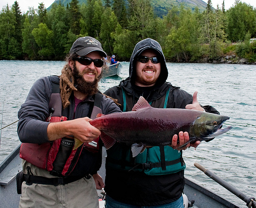
[{"label": "man in black hooded jacket and teal life vest, thumb up", "polygon": [[[168,70],[160,44],[151,38],[138,42],[130,59],[130,77],[105,91],[121,104],[122,111],[131,111],[140,96],[155,108],[187,108],[219,112],[202,107],[194,96],[166,82]],[[129,125],[129,124],[127,124]],[[131,145],[115,143],[106,157],[106,208],[164,207],[183,208],[185,163],[182,150],[176,148],[189,140],[187,132],[174,135],[172,146],[146,148],[136,157]],[[179,144],[178,144],[179,140]],[[197,147],[200,142],[183,148]]]}]

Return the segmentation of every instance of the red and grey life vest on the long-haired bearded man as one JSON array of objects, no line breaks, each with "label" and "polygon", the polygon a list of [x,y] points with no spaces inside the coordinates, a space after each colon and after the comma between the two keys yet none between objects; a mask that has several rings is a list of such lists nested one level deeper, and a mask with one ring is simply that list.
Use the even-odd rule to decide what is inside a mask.
[{"label": "red and grey life vest on the long-haired bearded man", "polygon": [[[55,77],[56,78],[56,77]],[[52,77],[49,77],[52,83],[52,94],[49,102],[49,118],[48,122],[67,121],[67,117],[61,115],[62,102],[60,98],[59,82]],[[95,95],[94,106],[91,110],[90,118],[95,119],[98,113],[101,113],[101,98],[102,94]],[[53,142],[44,144],[22,143],[20,146],[19,156],[27,160],[29,163],[41,169],[50,171],[50,174],[55,176],[69,175],[78,161],[78,158],[83,150],[97,153],[99,151],[99,137],[91,143],[84,143],[77,149],[73,150],[74,139],[63,137]]]}]

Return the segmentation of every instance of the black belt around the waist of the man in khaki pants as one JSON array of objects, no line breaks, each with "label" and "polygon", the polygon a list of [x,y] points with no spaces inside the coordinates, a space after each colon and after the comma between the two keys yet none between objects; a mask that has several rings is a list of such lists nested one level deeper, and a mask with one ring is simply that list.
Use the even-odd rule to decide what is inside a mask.
[{"label": "black belt around the waist of the man in khaki pants", "polygon": [[32,183],[38,183],[38,184],[45,184],[45,185],[65,185],[71,182],[74,182],[76,180],[79,180],[83,177],[86,177],[87,179],[90,179],[90,175],[86,176],[69,176],[66,178],[46,178],[42,176],[35,176],[35,175],[29,175],[23,173],[23,181],[26,181],[26,184],[31,185]]}]

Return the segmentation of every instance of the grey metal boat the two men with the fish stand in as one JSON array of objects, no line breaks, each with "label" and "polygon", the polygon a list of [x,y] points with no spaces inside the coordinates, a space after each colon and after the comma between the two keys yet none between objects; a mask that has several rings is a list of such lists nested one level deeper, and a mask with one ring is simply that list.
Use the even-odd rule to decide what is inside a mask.
[{"label": "grey metal boat the two men with the fish stand in", "polygon": [[[22,159],[19,157],[20,145],[16,147],[0,164],[0,207],[18,207],[19,197],[16,191],[16,174],[22,170]],[[102,164],[105,163],[106,151],[103,148]],[[104,165],[99,170],[99,174],[105,179]],[[200,184],[185,178],[184,201],[187,199],[185,207],[195,208],[212,208],[212,207],[229,207],[242,208],[222,196],[209,191]],[[104,208],[103,190],[98,190],[100,208]],[[251,207],[256,207],[255,199],[252,200]],[[254,203],[255,202],[255,203]]]}]

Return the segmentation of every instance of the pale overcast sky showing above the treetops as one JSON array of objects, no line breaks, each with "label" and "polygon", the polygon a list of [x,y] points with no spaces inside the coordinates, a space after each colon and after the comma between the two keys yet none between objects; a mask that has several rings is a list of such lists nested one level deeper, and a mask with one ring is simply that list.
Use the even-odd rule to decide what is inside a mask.
[{"label": "pale overcast sky showing above the treetops", "polygon": [[[14,2],[15,2],[15,0],[0,0],[0,9],[2,10],[2,8],[4,6],[7,6],[7,4],[9,5],[9,7],[11,7]],[[22,12],[26,12],[26,11],[28,11],[29,7],[34,7],[35,9],[37,9],[37,7],[39,6],[39,3],[44,3],[45,7],[48,8],[51,6],[51,4],[54,2],[54,0],[17,0],[17,2],[18,2],[20,10]],[[207,3],[207,0],[205,0],[204,2]],[[224,0],[225,9],[227,10],[230,7],[232,7],[234,5],[234,2],[235,2],[235,0]],[[256,8],[255,0],[242,0],[242,2],[245,2],[246,4],[250,4],[251,6]],[[214,8],[217,8],[218,4],[221,7],[223,0],[211,0],[211,3]]]}]

